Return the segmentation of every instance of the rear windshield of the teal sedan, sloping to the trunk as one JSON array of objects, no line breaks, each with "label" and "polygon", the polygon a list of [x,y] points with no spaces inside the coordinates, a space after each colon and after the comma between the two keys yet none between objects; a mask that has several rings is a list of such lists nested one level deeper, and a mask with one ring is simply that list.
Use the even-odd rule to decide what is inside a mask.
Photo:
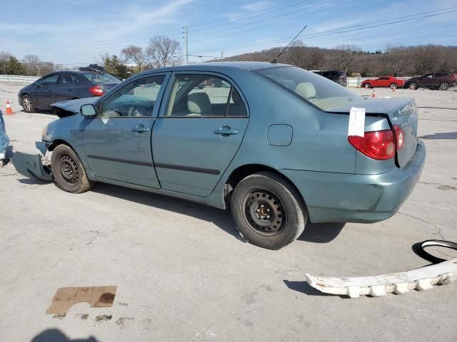
[{"label": "rear windshield of the teal sedan, sloping to the trunk", "polygon": [[256,70],[321,110],[331,110],[363,100],[346,88],[322,76],[293,66]]}]

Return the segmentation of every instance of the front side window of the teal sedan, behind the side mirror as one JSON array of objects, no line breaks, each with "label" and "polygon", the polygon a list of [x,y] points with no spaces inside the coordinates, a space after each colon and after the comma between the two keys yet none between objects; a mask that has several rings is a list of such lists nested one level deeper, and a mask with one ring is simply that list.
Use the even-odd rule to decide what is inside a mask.
[{"label": "front side window of the teal sedan, behind the side mirror", "polygon": [[120,88],[101,104],[103,118],[151,116],[164,76],[141,78]]}]

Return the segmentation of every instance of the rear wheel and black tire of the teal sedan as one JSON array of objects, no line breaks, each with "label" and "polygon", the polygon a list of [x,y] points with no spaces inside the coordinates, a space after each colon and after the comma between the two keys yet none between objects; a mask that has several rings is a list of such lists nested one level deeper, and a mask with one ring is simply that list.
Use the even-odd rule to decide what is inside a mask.
[{"label": "rear wheel and black tire of the teal sedan", "polygon": [[290,244],[308,221],[300,194],[274,172],[258,172],[241,180],[233,190],[231,214],[243,238],[266,249]]}]

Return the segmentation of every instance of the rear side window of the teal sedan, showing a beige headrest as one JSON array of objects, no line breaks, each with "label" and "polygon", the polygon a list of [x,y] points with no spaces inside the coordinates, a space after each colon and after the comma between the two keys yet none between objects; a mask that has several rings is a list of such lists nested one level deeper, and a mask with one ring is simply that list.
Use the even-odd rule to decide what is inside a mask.
[{"label": "rear side window of the teal sedan, showing a beige headrest", "polygon": [[243,100],[231,83],[210,75],[177,75],[166,117],[246,117]]}]

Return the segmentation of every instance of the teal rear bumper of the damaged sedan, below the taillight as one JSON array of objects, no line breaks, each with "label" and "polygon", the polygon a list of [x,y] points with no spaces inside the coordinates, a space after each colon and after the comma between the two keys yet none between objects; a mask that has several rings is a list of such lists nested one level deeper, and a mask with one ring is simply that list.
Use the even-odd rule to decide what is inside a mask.
[{"label": "teal rear bumper of the damaged sedan, below the taillight", "polygon": [[378,222],[395,214],[413,191],[426,159],[418,140],[405,167],[378,175],[281,170],[301,192],[311,222]]}]

